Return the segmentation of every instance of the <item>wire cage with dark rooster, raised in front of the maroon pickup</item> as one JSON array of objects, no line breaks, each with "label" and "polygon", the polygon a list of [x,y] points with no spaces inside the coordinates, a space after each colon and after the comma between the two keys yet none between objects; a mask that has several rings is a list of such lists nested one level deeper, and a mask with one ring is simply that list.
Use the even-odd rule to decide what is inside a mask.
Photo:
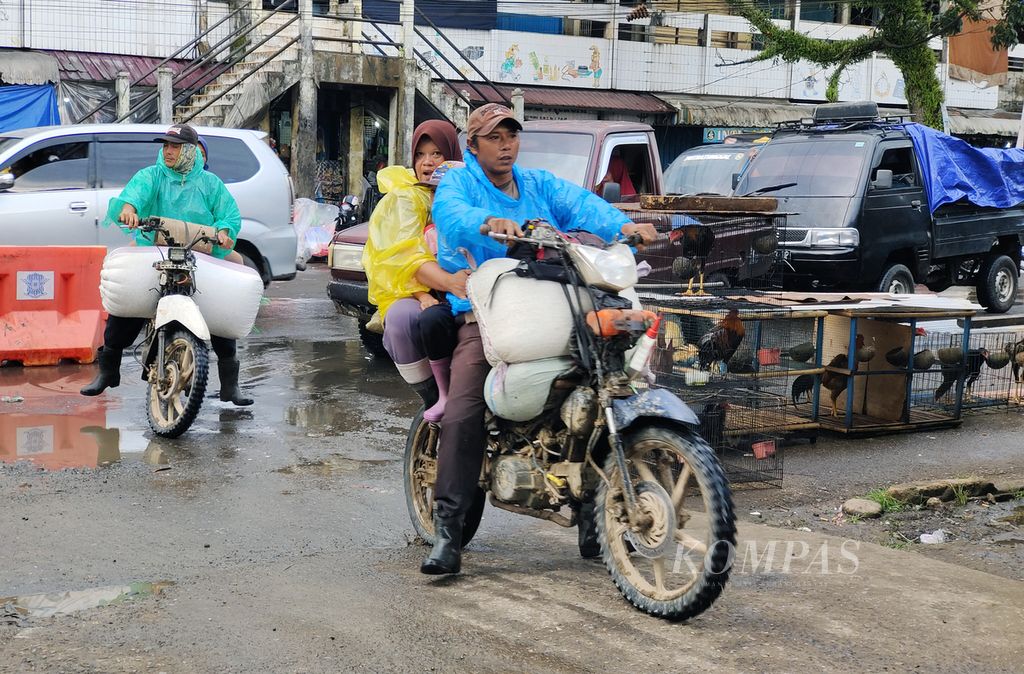
[{"label": "wire cage with dark rooster, raised in front of the maroon pickup", "polygon": [[782,287],[778,236],[785,225],[784,214],[648,209],[628,214],[634,222],[652,224],[665,235],[637,255],[638,262],[651,267],[643,287],[676,286],[676,292],[691,295]]}]

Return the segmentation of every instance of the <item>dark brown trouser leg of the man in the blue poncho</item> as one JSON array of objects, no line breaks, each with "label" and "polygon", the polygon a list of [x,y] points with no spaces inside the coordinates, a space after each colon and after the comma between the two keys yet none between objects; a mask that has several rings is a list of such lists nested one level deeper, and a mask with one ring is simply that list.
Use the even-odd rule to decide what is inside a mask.
[{"label": "dark brown trouser leg of the man in the blue poncho", "polygon": [[441,517],[465,515],[476,495],[486,441],[483,381],[489,371],[480,327],[475,323],[461,326],[452,354],[452,381],[437,443],[434,502]]}]

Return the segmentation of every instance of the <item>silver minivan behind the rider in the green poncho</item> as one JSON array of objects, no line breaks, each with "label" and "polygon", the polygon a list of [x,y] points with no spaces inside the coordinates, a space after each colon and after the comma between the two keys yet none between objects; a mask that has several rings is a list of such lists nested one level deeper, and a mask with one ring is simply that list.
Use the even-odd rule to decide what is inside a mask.
[{"label": "silver minivan behind the rider in the green poncho", "polygon": [[[136,171],[156,163],[160,144],[154,138],[166,130],[156,124],[79,124],[0,132],[0,245],[127,245],[119,227],[102,224],[108,203]],[[210,171],[242,212],[236,250],[264,283],[294,279],[292,182],[266,133],[196,130],[209,148]]]}]

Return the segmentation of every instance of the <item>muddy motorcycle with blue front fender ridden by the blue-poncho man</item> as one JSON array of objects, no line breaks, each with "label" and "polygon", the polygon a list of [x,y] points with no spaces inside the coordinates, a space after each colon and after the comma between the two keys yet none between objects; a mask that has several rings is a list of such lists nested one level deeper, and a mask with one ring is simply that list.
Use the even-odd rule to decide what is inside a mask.
[{"label": "muddy motorcycle with blue front fender ridden by the blue-poncho man", "polygon": [[[526,237],[489,236],[517,249],[509,252],[521,259],[515,275],[561,285],[571,314],[571,365],[548,378],[540,409],[528,420],[502,418],[497,398],[485,395],[488,445],[463,544],[476,533],[489,492],[495,507],[579,526],[581,553],[596,556],[599,550],[615,586],[637,608],[670,620],[696,616],[728,580],[735,544],[732,496],[717,457],[697,434],[693,411],[671,392],[645,386],[651,326],[659,317],[618,294],[637,283],[636,260],[623,244],[639,239],[589,246],[545,222],[527,223],[526,229]],[[508,259],[500,259],[507,269]],[[480,265],[471,282],[496,262]],[[511,380],[504,379],[506,389]],[[506,392],[512,398],[517,393]],[[423,421],[421,411],[404,456],[407,504],[428,545],[434,541],[438,435],[438,426]]]}]

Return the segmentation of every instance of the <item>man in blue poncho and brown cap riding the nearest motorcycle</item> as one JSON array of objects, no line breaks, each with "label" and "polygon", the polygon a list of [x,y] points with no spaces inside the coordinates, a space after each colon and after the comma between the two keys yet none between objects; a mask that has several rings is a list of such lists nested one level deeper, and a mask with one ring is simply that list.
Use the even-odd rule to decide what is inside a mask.
[{"label": "man in blue poncho and brown cap riding the nearest motorcycle", "polygon": [[[597,195],[543,170],[515,165],[522,125],[508,108],[488,103],[469,118],[466,166],[441,180],[433,217],[439,233],[438,262],[456,273],[470,264],[503,257],[505,247],[480,234],[487,224],[497,234],[522,236],[520,223],[542,218],[563,231],[585,229],[611,241],[618,234],[640,234],[653,241],[652,225],[635,224]],[[467,259],[468,258],[468,259]],[[489,366],[479,326],[469,300],[449,294],[460,317],[458,345],[452,356],[447,405],[437,447],[434,485],[435,543],[420,571],[457,574],[462,566],[462,528],[477,490],[485,449],[483,383]],[[581,523],[581,553],[595,556],[593,524]]]}]

